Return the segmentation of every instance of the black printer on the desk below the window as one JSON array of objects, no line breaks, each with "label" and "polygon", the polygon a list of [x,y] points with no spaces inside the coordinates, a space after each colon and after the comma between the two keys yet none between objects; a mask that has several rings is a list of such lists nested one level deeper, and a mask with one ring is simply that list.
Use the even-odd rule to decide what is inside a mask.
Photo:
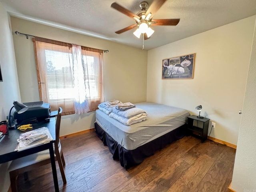
[{"label": "black printer on the desk below the window", "polygon": [[33,122],[36,120],[48,120],[50,117],[50,104],[42,101],[23,103],[28,107],[23,113],[14,112],[14,119],[18,124]]}]

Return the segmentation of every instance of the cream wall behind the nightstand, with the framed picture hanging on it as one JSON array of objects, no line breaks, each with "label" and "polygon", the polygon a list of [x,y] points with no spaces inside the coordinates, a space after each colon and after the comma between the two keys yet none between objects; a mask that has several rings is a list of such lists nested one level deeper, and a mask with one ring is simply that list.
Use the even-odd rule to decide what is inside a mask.
[{"label": "cream wall behind the nightstand, with the framed picture hanging on it", "polygon": [[[256,16],[148,51],[147,101],[216,122],[210,136],[237,144]],[[162,60],[196,53],[194,79],[162,80]],[[210,130],[209,130],[210,132]]]}]

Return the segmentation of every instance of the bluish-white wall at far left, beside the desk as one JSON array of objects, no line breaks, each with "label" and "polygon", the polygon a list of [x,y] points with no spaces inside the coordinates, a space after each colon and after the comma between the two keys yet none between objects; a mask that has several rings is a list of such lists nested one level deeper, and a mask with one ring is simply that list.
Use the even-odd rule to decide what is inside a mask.
[{"label": "bluish-white wall at far left, beside the desk", "polygon": [[[20,101],[20,90],[12,31],[10,30],[8,15],[0,2],[0,66],[3,82],[0,82],[0,121],[6,120],[14,100]],[[1,143],[0,143],[1,147]],[[0,191],[7,191],[10,186],[8,163],[0,164]]]}]

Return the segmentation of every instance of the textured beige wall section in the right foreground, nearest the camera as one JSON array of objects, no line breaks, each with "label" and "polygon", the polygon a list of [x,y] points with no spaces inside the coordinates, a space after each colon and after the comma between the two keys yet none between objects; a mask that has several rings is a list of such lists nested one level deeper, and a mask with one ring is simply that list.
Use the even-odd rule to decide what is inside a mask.
[{"label": "textured beige wall section in the right foreground, nearest the camera", "polygon": [[236,192],[256,191],[256,25],[238,135],[232,186]]}]

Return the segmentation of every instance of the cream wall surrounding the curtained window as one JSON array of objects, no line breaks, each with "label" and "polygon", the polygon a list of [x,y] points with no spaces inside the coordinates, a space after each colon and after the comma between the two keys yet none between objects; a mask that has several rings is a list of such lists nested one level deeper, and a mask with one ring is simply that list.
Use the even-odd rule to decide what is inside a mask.
[{"label": "cream wall surrounding the curtained window", "polygon": [[[104,53],[104,98],[146,101],[147,51],[11,17],[12,31],[109,50]],[[134,36],[134,38],[136,38]],[[22,102],[39,101],[32,39],[13,35]],[[62,117],[60,135],[94,128],[95,112]]]}]

